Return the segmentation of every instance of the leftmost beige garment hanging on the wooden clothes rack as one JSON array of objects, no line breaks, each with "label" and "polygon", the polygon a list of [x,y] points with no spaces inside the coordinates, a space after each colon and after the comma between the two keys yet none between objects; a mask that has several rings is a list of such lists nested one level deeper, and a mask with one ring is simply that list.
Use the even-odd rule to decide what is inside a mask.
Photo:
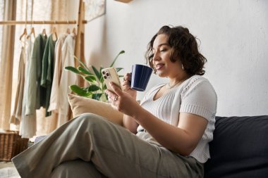
[{"label": "leftmost beige garment hanging on the wooden clothes rack", "polygon": [[13,114],[10,117],[9,122],[14,125],[19,125],[21,120],[21,112],[23,108],[23,87],[25,77],[25,48],[21,47],[20,61],[18,63],[18,85],[16,91],[16,98],[14,104]]}]

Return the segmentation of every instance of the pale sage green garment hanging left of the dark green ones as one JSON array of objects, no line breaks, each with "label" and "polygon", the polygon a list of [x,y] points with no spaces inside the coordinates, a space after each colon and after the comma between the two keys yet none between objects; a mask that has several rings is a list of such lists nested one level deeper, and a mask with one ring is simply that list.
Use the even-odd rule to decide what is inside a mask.
[{"label": "pale sage green garment hanging left of the dark green ones", "polygon": [[44,54],[44,46],[47,42],[47,36],[39,34],[33,44],[32,56],[28,65],[28,91],[26,103],[26,115],[32,115],[40,106],[44,106],[44,87],[40,87],[42,58]]}]

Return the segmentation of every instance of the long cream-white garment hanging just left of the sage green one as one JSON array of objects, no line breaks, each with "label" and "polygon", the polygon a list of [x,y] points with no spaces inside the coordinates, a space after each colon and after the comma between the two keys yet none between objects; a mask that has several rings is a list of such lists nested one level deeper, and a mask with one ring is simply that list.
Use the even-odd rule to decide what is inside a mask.
[{"label": "long cream-white garment hanging just left of the sage green one", "polygon": [[24,80],[24,88],[23,88],[23,108],[22,108],[22,114],[21,114],[21,121],[20,121],[20,132],[22,138],[31,138],[32,136],[35,136],[36,133],[36,113],[33,113],[32,115],[26,115],[26,103],[28,100],[28,86],[29,86],[29,80],[28,80],[28,65],[30,58],[32,56],[32,46],[33,42],[31,37],[26,39],[26,50],[25,50],[25,80]]}]

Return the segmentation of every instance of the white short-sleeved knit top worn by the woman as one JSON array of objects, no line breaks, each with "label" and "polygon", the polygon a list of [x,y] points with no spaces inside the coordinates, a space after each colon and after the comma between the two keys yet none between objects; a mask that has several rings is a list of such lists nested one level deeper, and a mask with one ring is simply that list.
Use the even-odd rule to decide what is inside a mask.
[{"label": "white short-sleeved knit top worn by the woman", "polygon": [[[148,91],[140,105],[164,122],[178,126],[179,113],[193,113],[208,120],[207,128],[202,139],[197,144],[190,156],[200,163],[205,163],[209,155],[209,141],[213,139],[215,114],[217,111],[217,94],[207,79],[200,75],[194,75],[185,80],[178,87],[174,87],[169,93],[157,100],[154,95],[164,84],[158,84]],[[138,127],[138,132],[142,130]]]}]

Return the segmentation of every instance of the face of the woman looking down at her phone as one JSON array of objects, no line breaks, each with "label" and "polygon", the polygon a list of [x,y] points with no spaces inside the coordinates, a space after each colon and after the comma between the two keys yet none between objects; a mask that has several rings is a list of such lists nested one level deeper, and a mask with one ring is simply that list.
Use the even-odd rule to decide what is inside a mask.
[{"label": "face of the woman looking down at her phone", "polygon": [[159,77],[172,78],[178,76],[182,69],[180,62],[176,61],[172,63],[170,61],[171,46],[169,46],[167,40],[168,37],[166,37],[166,34],[159,34],[156,39],[154,39],[152,49],[154,57],[152,60]]}]

